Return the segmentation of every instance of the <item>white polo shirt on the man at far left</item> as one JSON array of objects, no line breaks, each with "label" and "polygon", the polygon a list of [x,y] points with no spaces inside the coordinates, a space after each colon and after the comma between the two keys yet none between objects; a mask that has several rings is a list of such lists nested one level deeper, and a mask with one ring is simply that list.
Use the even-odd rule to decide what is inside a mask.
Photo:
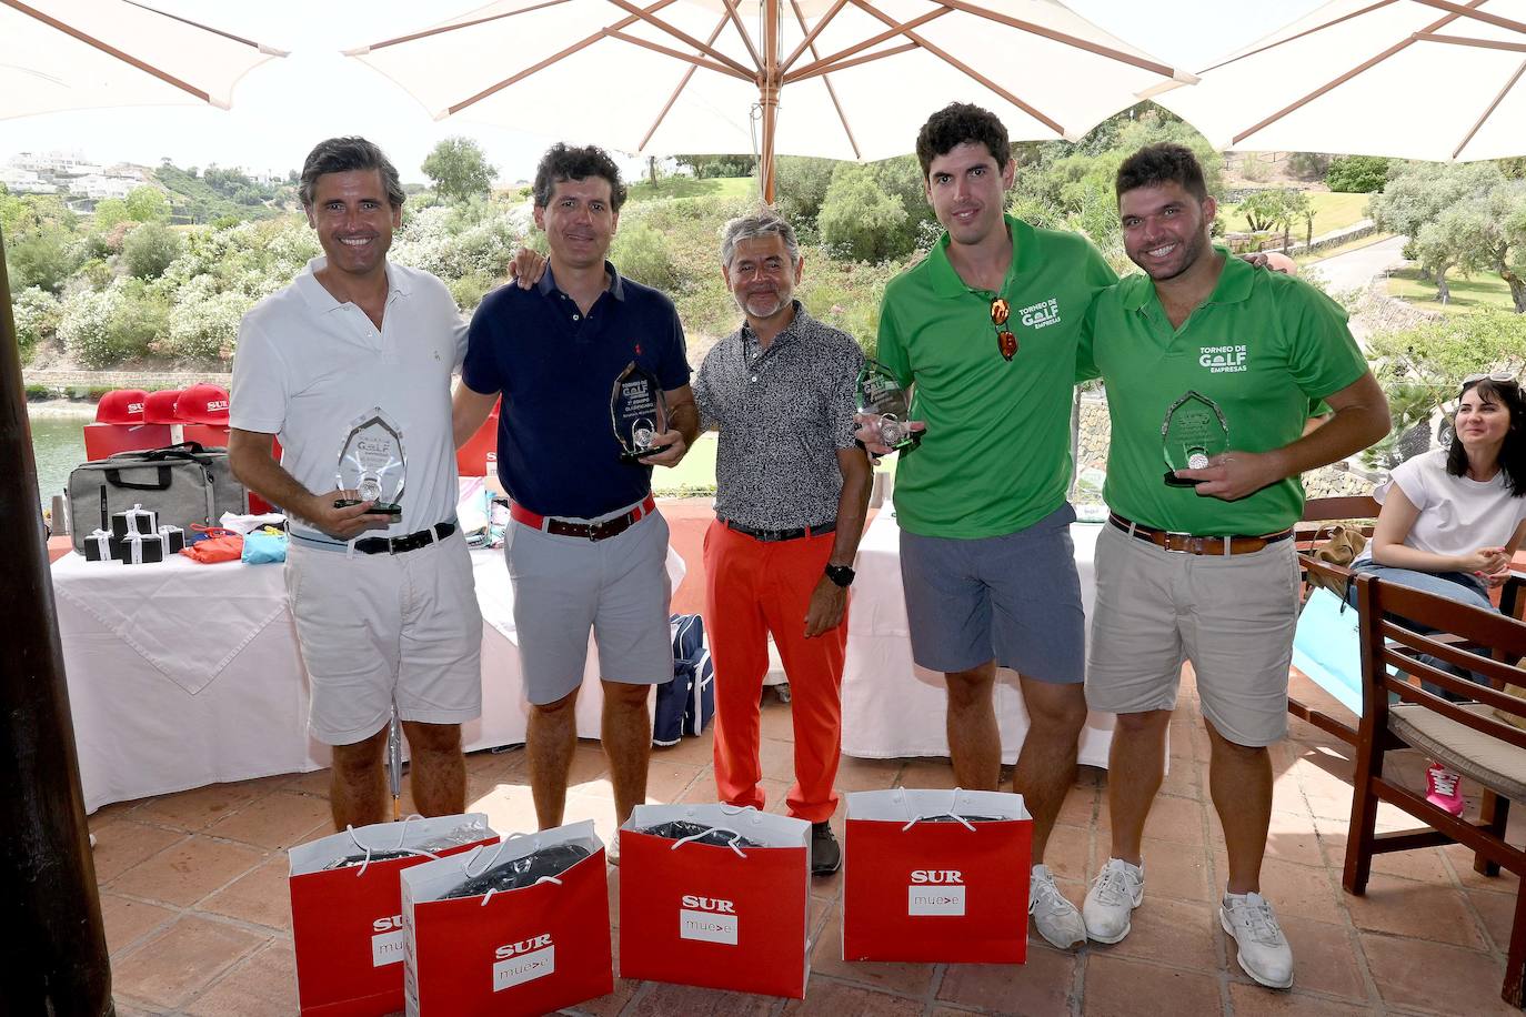
[{"label": "white polo shirt on the man at far left", "polygon": [[[465,357],[465,322],[439,279],[388,262],[378,332],[365,311],[340,303],[314,278],[327,264],[314,258],[291,285],[244,316],[229,421],[276,435],[285,471],[322,494],[339,486],[339,451],[351,422],[380,407],[401,430],[407,460],[403,518],[386,534],[446,521],[456,511],[450,375]],[[291,529],[333,541],[301,521]]]}]

